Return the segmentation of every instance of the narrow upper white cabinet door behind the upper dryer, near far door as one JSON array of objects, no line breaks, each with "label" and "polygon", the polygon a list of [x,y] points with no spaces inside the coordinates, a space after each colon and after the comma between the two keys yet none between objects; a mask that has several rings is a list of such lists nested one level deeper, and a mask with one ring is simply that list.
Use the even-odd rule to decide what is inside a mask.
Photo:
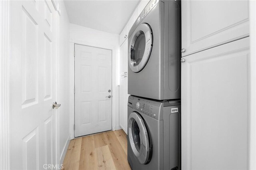
[{"label": "narrow upper white cabinet door behind the upper dryer, near far door", "polygon": [[128,72],[128,39],[120,46],[120,75]]}]

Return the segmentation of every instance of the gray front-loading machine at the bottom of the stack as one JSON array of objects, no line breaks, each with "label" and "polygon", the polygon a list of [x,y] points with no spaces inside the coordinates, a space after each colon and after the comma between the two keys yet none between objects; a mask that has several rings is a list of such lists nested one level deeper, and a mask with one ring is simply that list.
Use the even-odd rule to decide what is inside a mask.
[{"label": "gray front-loading machine at the bottom of the stack", "polygon": [[180,170],[180,101],[129,96],[127,142],[133,170]]}]

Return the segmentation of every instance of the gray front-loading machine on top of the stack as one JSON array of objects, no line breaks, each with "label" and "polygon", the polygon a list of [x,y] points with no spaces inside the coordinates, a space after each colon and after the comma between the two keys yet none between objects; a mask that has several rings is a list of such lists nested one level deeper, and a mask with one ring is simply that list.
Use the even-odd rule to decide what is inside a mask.
[{"label": "gray front-loading machine on top of the stack", "polygon": [[180,23],[180,0],[151,0],[138,16],[128,34],[128,94],[180,99]]}]

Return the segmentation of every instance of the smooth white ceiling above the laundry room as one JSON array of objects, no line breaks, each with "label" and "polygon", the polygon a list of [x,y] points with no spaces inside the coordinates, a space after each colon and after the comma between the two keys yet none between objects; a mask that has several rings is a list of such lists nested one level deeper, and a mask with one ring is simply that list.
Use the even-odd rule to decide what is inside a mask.
[{"label": "smooth white ceiling above the laundry room", "polygon": [[64,0],[72,24],[120,34],[140,0]]}]

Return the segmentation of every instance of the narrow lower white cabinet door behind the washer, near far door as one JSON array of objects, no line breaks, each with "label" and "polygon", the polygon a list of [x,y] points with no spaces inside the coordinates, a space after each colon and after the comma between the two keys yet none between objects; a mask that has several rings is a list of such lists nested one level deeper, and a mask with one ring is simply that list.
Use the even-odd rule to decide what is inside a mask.
[{"label": "narrow lower white cabinet door behind the washer, near far door", "polygon": [[119,109],[119,123],[120,127],[127,134],[127,121],[128,121],[128,78],[127,75],[120,77],[120,109]]}]

